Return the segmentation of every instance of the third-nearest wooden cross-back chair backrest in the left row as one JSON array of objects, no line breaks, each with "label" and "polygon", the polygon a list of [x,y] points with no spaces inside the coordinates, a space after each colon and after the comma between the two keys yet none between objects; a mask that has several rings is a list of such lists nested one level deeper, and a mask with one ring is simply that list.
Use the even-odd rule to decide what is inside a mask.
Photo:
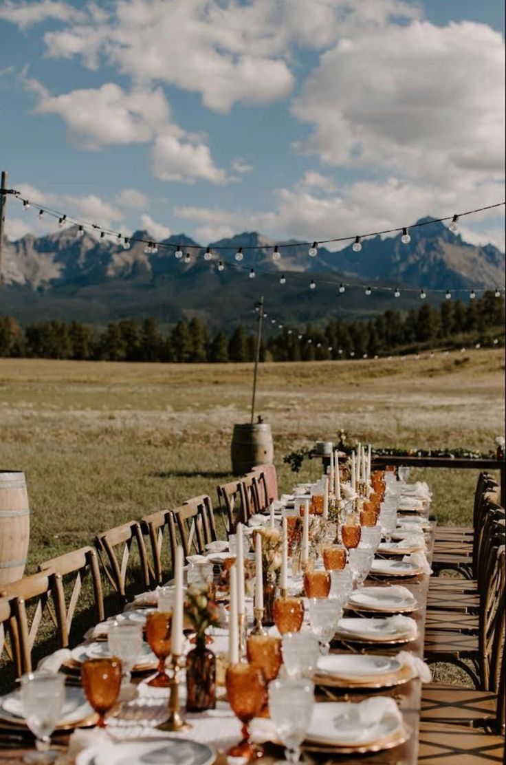
[{"label": "third-nearest wooden cross-back chair backrest in the left row", "polygon": [[[84,629],[83,624],[78,627],[79,636],[82,636],[86,628],[90,627],[92,623],[96,624],[104,619],[104,597],[96,549],[86,546],[73,552],[66,552],[58,558],[51,558],[41,563],[38,571],[44,571],[50,575],[57,611],[64,614],[66,643],[70,642],[70,632],[79,597],[83,594],[82,600],[84,600],[88,595],[87,584],[92,586],[93,607],[89,608],[88,606],[79,609],[80,617],[85,617],[85,611],[88,614]],[[83,591],[83,584],[85,591]]]}]

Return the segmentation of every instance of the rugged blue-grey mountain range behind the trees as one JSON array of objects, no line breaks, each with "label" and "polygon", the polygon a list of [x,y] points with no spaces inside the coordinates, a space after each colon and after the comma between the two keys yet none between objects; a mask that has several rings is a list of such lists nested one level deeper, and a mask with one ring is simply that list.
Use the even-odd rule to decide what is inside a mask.
[{"label": "rugged blue-grey mountain range behind the trees", "polygon": [[[410,229],[409,244],[401,243],[400,236],[375,236],[363,242],[361,252],[354,252],[352,246],[339,252],[319,246],[312,258],[307,245],[296,240],[279,242],[290,247],[281,249],[277,262],[272,259],[274,242],[256,232],[211,243],[211,261],[203,258],[206,248],[184,234],[164,241],[171,249],[160,247],[149,254],[141,242],[123,249],[115,241],[99,242],[88,233],[76,236],[76,226],[47,236],[28,234],[15,242],[5,241],[2,313],[15,316],[21,324],[58,318],[103,325],[119,318],[154,316],[164,326],[181,317],[198,316],[211,327],[226,328],[238,321],[253,321],[253,304],[264,295],[271,316],[305,324],[412,308],[420,304],[418,289],[422,287],[504,285],[503,252],[490,244],[466,243],[442,223],[430,219],[420,223],[425,221],[430,225]],[[146,231],[132,235],[132,239],[150,238]],[[174,257],[177,244],[183,252],[185,247],[199,248],[188,250],[190,263]],[[239,247],[255,247],[246,249],[240,264],[234,259]],[[251,268],[255,279],[249,278]],[[279,282],[281,274],[286,277],[284,285]],[[309,288],[312,278],[315,289]],[[384,290],[368,297],[361,288],[339,294],[340,282],[398,286],[401,297],[396,299],[392,291]],[[437,304],[442,297],[429,295],[428,299]]]}]

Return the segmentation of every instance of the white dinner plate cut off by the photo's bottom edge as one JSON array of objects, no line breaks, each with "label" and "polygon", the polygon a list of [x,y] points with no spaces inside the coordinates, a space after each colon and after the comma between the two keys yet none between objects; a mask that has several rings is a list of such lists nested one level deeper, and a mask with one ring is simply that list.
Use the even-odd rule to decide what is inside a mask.
[{"label": "white dinner plate cut off by the photo's bottom edge", "polygon": [[76,765],[211,765],[216,753],[186,738],[151,738],[105,744],[79,752]]}]

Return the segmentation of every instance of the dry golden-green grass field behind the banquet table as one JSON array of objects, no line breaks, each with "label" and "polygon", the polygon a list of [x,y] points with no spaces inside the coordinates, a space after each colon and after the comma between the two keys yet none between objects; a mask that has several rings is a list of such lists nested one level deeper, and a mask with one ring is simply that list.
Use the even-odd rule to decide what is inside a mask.
[{"label": "dry golden-green grass field behind the banquet table", "polygon": [[[96,532],[199,493],[230,475],[232,426],[248,422],[251,365],[0,360],[0,466],[24,470],[32,509],[28,570]],[[488,451],[504,429],[504,351],[433,360],[271,363],[258,412],[283,456],[317,438]],[[316,477],[305,461],[300,476]],[[469,520],[474,471],[431,471],[443,522]]]}]

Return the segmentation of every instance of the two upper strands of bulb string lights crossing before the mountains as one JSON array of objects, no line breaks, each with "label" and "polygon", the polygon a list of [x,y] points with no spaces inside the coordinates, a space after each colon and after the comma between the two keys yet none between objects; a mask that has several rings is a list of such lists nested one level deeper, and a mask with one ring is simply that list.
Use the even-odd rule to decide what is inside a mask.
[{"label": "two upper strands of bulb string lights crossing before the mountains", "polygon": [[[216,262],[216,256],[214,256],[212,250],[216,251],[231,251],[231,250],[240,250],[243,252],[244,250],[273,250],[274,252],[277,252],[279,249],[283,248],[286,249],[288,247],[301,247],[301,246],[308,246],[311,245],[312,247],[317,247],[319,244],[329,244],[329,243],[335,243],[335,242],[348,242],[348,241],[355,241],[356,245],[360,246],[360,249],[362,249],[361,240],[362,239],[368,239],[373,236],[381,236],[383,234],[388,233],[398,233],[403,232],[404,235],[406,235],[410,229],[413,228],[419,228],[420,226],[429,226],[433,223],[444,223],[445,221],[449,220],[452,223],[455,224],[455,226],[458,224],[458,221],[460,218],[468,216],[468,215],[474,215],[475,213],[481,213],[485,210],[493,210],[497,207],[504,207],[504,204],[506,202],[497,202],[495,204],[486,205],[485,207],[477,207],[475,210],[467,210],[463,213],[455,213],[453,215],[444,216],[441,218],[430,218],[429,220],[420,220],[417,223],[413,223],[411,226],[398,226],[397,228],[392,229],[383,229],[381,231],[375,231],[370,233],[365,233],[361,235],[355,235],[355,236],[342,236],[338,237],[336,239],[322,239],[319,242],[313,241],[313,243],[309,242],[297,242],[297,243],[285,243],[285,244],[279,244],[279,245],[251,245],[251,246],[243,246],[243,247],[236,247],[236,246],[230,246],[230,245],[222,245],[222,246],[213,246],[212,250],[210,246],[205,247],[201,245],[184,245],[183,248],[180,247],[179,244],[174,245],[173,243],[166,243],[166,242],[157,242],[154,239],[141,239],[140,237],[135,236],[124,236],[122,233],[117,233],[112,229],[105,228],[103,226],[99,226],[97,223],[90,223],[87,220],[80,219],[76,216],[73,216],[71,214],[62,213],[60,210],[55,210],[53,207],[47,207],[43,206],[37,202],[32,202],[31,200],[28,200],[25,197],[21,197],[21,193],[18,191],[13,192],[15,194],[15,198],[17,198],[21,203],[23,203],[24,207],[34,207],[35,210],[39,211],[40,215],[50,215],[54,218],[57,218],[60,222],[60,224],[66,224],[66,223],[74,223],[75,225],[79,226],[79,230],[84,231],[86,230],[92,230],[95,233],[100,232],[101,235],[104,236],[114,236],[116,237],[118,246],[122,245],[122,242],[124,244],[130,244],[132,242],[145,244],[148,247],[151,247],[151,249],[156,248],[162,248],[167,251],[180,251],[182,252],[182,249],[185,251],[187,250],[197,250],[201,252],[202,250],[206,250],[206,253],[204,255],[195,256],[195,259],[204,259],[204,260],[212,260]],[[336,253],[339,255],[339,253]],[[185,262],[182,259],[182,262]],[[188,261],[186,261],[188,262]],[[232,267],[232,269],[235,269],[237,271],[243,271],[243,272],[249,272],[249,276],[251,278],[255,278],[257,274],[265,274],[265,275],[271,275],[279,280],[283,279],[284,281],[281,282],[282,284],[287,282],[286,275],[282,274],[279,270],[272,271],[269,269],[253,269],[250,268],[248,265],[242,265],[238,262],[231,262],[231,261],[224,261],[222,259],[218,262],[218,268],[220,270],[223,270],[225,268],[225,265],[227,265],[229,268]],[[307,275],[300,274],[297,272],[289,272],[290,279],[298,279],[299,281],[306,281],[307,282]],[[365,291],[365,295],[370,295],[372,291],[386,291],[394,293],[394,296],[400,297],[401,292],[418,292],[420,294],[420,298],[426,298],[428,294],[446,294],[447,298],[451,298],[452,292],[456,293],[469,293],[470,295],[476,295],[478,292],[483,293],[485,291],[488,291],[489,288],[484,287],[475,287],[475,288],[453,288],[452,290],[449,289],[436,289],[436,288],[420,288],[420,287],[409,287],[409,286],[402,286],[402,288],[398,287],[391,287],[391,286],[385,286],[385,285],[368,285],[362,282],[338,282],[336,280],[331,280],[329,278],[320,278],[317,277],[317,282],[320,285],[332,285],[332,286],[339,286],[339,291],[343,292],[346,289],[363,289]],[[315,289],[316,288],[316,280],[315,278],[310,279],[310,288]],[[506,293],[506,288],[495,288],[495,295],[496,297],[499,297],[502,293]]]}]

